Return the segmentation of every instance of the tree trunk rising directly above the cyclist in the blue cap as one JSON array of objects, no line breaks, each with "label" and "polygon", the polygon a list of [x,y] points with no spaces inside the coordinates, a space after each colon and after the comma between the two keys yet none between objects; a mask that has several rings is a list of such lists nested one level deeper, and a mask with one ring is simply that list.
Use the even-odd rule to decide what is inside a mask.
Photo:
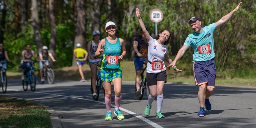
[{"label": "tree trunk rising directly above the cyclist in the blue cap", "polygon": [[101,28],[101,23],[100,23],[100,12],[101,12],[101,8],[100,8],[100,2],[101,0],[90,0],[91,3],[91,23],[93,23],[93,25],[91,26],[91,30],[95,31],[95,30],[100,30]]}]

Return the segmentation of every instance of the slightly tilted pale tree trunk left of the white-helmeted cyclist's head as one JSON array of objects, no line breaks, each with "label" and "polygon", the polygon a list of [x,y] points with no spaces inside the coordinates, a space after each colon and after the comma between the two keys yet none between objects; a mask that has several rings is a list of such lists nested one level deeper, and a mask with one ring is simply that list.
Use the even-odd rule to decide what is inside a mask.
[{"label": "slightly tilted pale tree trunk left of the white-helmeted cyclist's head", "polygon": [[42,49],[42,38],[40,33],[40,24],[37,11],[37,0],[31,0],[31,21],[34,29],[35,44],[37,45],[37,52]]}]

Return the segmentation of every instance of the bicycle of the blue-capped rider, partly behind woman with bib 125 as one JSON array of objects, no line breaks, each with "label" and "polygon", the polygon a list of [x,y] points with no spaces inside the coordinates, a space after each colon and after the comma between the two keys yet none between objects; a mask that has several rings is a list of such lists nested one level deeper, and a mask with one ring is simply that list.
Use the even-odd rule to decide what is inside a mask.
[{"label": "bicycle of the blue-capped rider, partly behind woman with bib 125", "polygon": [[[96,57],[94,57],[96,59]],[[103,57],[101,57],[101,60],[102,60]],[[97,69],[96,69],[96,72],[97,72],[97,78],[96,78],[96,94],[97,96],[93,96],[93,99],[95,101],[98,100],[99,98],[99,90],[103,90],[103,93],[104,93],[104,96],[105,96],[105,89],[103,87],[103,83],[102,83],[102,80],[99,78],[99,74],[100,74],[100,70],[101,68],[97,65]],[[92,81],[93,81],[93,76],[91,77],[91,87],[90,87],[90,90],[91,90],[91,94],[93,94],[93,84],[92,84]]]}]

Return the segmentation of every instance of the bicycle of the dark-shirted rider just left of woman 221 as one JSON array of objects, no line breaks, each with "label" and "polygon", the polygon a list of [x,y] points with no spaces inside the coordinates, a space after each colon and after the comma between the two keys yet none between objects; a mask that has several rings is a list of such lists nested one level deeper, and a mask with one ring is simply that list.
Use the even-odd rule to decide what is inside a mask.
[{"label": "bicycle of the dark-shirted rider just left of woman 221", "polygon": [[[145,67],[144,67],[145,65]],[[147,63],[146,61],[143,62],[143,65],[142,65],[142,73],[140,75],[140,79],[141,79],[141,82],[140,82],[140,90],[141,90],[141,93],[140,94],[137,94],[137,89],[136,89],[136,85],[135,85],[135,94],[136,94],[136,98],[141,100],[143,98],[143,94],[144,94],[144,89],[147,90],[147,97],[149,95],[149,89],[148,89],[148,86],[147,86],[147,77],[145,76],[144,77],[144,71],[147,69]]]}]

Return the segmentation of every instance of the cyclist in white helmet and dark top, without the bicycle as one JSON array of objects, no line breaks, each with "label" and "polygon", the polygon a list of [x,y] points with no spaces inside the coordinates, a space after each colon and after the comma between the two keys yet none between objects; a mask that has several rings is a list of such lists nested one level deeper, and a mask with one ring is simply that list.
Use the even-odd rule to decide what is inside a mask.
[{"label": "cyclist in white helmet and dark top, without the bicycle", "polygon": [[54,59],[52,53],[50,53],[50,51],[48,51],[47,46],[43,46],[42,49],[43,50],[41,50],[39,52],[39,59],[40,59],[39,60],[39,69],[40,69],[41,81],[45,81],[45,79],[43,78],[43,70],[44,70],[44,65],[46,65],[46,67],[48,67],[48,65],[49,65],[48,57],[50,57],[53,62],[55,62],[56,60]]}]

